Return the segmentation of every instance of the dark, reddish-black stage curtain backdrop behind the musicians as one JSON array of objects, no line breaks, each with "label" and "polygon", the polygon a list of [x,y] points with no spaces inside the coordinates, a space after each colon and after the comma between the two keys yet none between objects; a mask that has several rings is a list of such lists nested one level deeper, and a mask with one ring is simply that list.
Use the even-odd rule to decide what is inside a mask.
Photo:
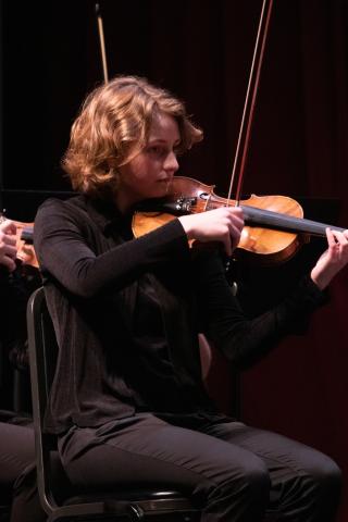
[{"label": "dark, reddish-black stage curtain backdrop behind the musicians", "polygon": [[[109,75],[144,75],[186,101],[206,139],[183,175],[225,196],[261,0],[100,1]],[[348,1],[275,0],[244,194],[282,194],[306,216],[348,226]],[[85,95],[102,82],[95,3],[1,2],[1,197],[33,221],[49,194],[70,190],[60,169]],[[285,294],[325,243],[284,266],[238,268],[250,313]],[[343,271],[306,336],[291,337],[241,378],[247,422],[331,455],[348,480],[347,290]],[[217,390],[219,395],[219,390]],[[221,396],[220,391],[220,396]],[[221,399],[228,406],[228,398]],[[339,521],[348,520],[347,495]]]}]

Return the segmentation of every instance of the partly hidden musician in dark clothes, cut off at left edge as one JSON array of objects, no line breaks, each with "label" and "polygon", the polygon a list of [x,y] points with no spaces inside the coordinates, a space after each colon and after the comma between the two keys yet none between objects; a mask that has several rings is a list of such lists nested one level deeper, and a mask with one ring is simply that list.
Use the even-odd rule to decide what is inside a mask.
[{"label": "partly hidden musician in dark clothes, cut off at left edge", "polygon": [[[0,341],[2,357],[9,356],[14,365],[27,372],[26,303],[32,291],[41,283],[38,271],[26,276],[16,262],[15,234],[14,223],[0,223]],[[28,389],[27,394],[29,393]],[[36,489],[34,459],[34,430],[29,413],[0,410],[1,522],[46,520]],[[10,515],[10,511],[4,508],[10,508],[11,504]]]}]

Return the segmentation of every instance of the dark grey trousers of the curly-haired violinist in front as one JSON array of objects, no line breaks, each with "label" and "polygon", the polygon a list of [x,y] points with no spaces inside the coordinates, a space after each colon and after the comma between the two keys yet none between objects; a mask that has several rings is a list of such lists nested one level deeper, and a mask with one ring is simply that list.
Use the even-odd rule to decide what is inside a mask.
[{"label": "dark grey trousers of the curly-haired violinist in front", "polygon": [[223,417],[137,414],[72,427],[60,452],[78,486],[174,487],[202,508],[202,522],[334,520],[340,471],[325,455]]}]

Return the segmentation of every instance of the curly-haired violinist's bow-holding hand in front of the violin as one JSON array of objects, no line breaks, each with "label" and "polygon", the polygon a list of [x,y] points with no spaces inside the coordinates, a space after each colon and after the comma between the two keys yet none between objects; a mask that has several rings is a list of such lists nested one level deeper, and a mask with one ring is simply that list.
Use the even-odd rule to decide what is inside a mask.
[{"label": "curly-haired violinist's bow-holding hand in front of the violin", "polygon": [[237,247],[244,227],[239,207],[222,207],[178,217],[188,239],[201,243],[221,241],[227,256]]}]

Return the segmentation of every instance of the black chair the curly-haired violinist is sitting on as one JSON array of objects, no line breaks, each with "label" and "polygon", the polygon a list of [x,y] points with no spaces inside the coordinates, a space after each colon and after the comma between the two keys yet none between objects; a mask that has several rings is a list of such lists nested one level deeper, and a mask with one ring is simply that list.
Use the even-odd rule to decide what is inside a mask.
[{"label": "black chair the curly-haired violinist is sitting on", "polygon": [[[30,296],[27,327],[35,426],[37,485],[48,521],[141,520],[194,522],[200,511],[190,499],[176,490],[137,489],[79,492],[69,482],[57,453],[57,437],[45,433],[44,415],[52,383],[58,345],[46,306],[44,288]],[[58,487],[59,485],[59,487]]]}]

